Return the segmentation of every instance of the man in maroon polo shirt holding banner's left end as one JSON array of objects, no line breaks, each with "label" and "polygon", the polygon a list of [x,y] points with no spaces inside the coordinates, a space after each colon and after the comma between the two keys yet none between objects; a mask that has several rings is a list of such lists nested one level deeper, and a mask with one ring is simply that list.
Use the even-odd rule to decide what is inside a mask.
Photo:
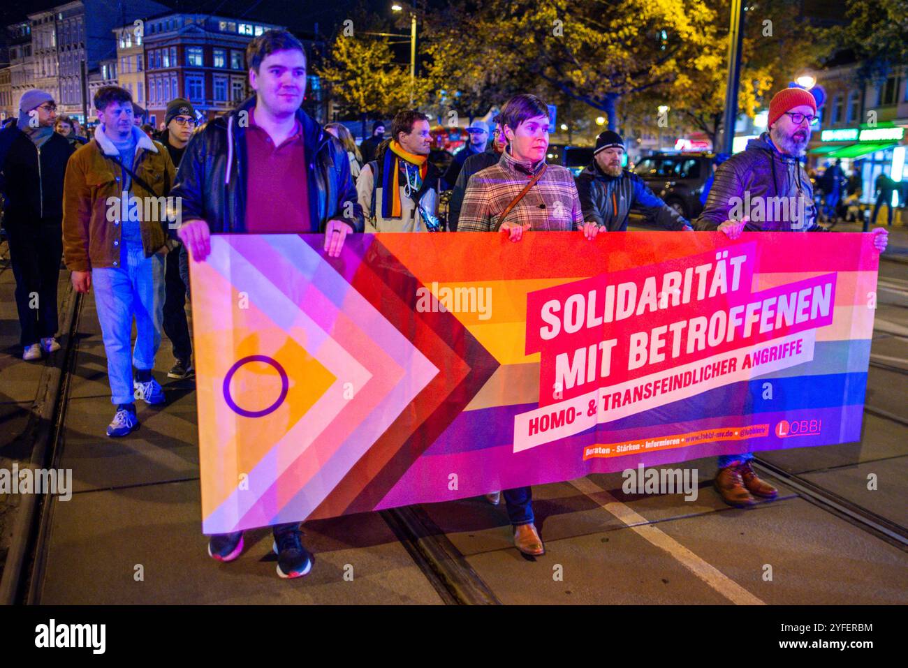
[{"label": "man in maroon polo shirt holding banner's left end", "polygon": [[[211,252],[212,232],[324,232],[324,250],[341,254],[346,236],[363,230],[350,159],[330,133],[304,113],[306,55],[290,33],[270,30],[246,50],[255,95],[208,123],[186,149],[171,194],[181,198],[177,231],[192,259]],[[298,522],[272,526],[278,575],[309,573],[311,554]],[[208,554],[232,561],[242,531],[212,535]]]}]

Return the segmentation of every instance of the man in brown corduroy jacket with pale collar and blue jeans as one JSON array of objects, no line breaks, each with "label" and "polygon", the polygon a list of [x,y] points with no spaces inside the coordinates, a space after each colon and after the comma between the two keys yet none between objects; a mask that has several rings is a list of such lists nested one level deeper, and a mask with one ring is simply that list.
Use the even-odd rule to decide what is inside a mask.
[{"label": "man in brown corduroy jacket with pale collar and blue jeans", "polygon": [[174,169],[163,146],[133,126],[128,91],[104,86],[94,106],[101,122],[94,139],[66,165],[64,260],[76,291],[88,292],[94,284],[116,406],[107,436],[121,437],[139,426],[133,398],[164,400],[152,368],[161,344],[167,251],[161,212]]}]

